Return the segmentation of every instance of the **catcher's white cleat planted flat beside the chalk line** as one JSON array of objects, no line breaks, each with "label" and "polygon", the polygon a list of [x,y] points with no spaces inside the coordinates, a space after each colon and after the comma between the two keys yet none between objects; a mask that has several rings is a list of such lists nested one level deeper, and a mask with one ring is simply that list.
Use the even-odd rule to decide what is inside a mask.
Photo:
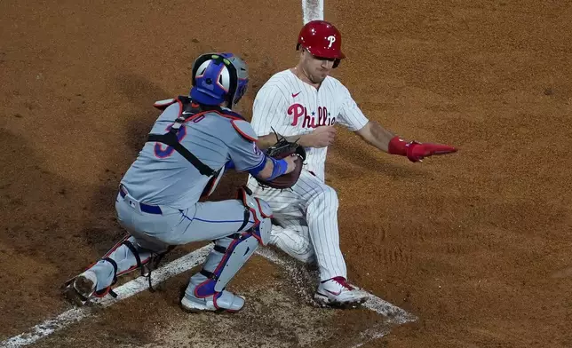
[{"label": "catcher's white cleat planted flat beside the chalk line", "polygon": [[244,298],[226,290],[204,298],[186,294],[180,305],[187,312],[238,312],[244,306]]}]

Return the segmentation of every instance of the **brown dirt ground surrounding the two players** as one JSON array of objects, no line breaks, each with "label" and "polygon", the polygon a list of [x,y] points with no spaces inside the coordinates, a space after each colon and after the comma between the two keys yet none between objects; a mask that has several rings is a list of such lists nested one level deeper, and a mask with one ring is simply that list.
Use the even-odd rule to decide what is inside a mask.
[{"label": "brown dirt ground surrounding the two players", "polygon": [[[351,281],[419,318],[362,346],[572,346],[572,6],[325,5],[348,56],[335,76],[365,114],[460,148],[411,163],[338,131],[327,182]],[[0,2],[0,339],[70,308],[60,284],[123,235],[117,183],[153,102],[187,93],[195,56],[247,60],[249,115],[262,83],[294,63],[301,24],[297,1]],[[216,198],[243,180],[226,178]],[[308,305],[262,257],[233,283],[245,312],[189,316],[177,306],[189,274],[36,346],[347,347],[383,324]]]}]

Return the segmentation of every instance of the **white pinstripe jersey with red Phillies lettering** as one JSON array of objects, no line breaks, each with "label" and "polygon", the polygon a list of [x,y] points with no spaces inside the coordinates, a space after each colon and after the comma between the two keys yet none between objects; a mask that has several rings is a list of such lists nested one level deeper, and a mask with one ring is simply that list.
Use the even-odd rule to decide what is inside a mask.
[{"label": "white pinstripe jersey with red Phillies lettering", "polygon": [[[273,128],[283,136],[292,136],[336,123],[360,130],[368,121],[346,86],[334,77],[326,77],[316,90],[289,69],[274,74],[258,91],[250,123],[258,136]],[[322,180],[327,151],[327,147],[306,148],[305,168]]]}]

